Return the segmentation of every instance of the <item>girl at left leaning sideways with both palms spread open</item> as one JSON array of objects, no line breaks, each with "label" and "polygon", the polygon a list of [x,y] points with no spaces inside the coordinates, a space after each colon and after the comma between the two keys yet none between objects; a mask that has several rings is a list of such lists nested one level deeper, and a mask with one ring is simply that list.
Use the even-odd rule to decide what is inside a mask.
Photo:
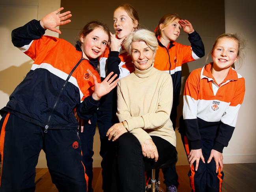
[{"label": "girl at left leaning sideways with both palms spread open", "polygon": [[[69,23],[63,7],[12,32],[13,44],[34,60],[31,70],[2,108],[0,191],[34,191],[36,164],[45,151],[52,182],[59,191],[86,191],[78,116],[88,119],[99,99],[117,84],[107,76],[100,83],[95,70],[110,39],[106,25],[90,22],[74,47],[64,39],[43,35],[46,29]],[[120,62],[110,57],[109,62]]]}]

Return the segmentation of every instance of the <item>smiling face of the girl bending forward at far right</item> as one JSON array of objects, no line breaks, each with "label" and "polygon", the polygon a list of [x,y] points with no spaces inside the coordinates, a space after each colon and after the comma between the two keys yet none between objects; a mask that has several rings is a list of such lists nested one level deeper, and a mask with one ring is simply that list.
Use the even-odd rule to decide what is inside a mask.
[{"label": "smiling face of the girl bending forward at far right", "polygon": [[235,39],[222,37],[220,38],[211,54],[213,67],[216,71],[228,69],[238,60],[238,43]]}]

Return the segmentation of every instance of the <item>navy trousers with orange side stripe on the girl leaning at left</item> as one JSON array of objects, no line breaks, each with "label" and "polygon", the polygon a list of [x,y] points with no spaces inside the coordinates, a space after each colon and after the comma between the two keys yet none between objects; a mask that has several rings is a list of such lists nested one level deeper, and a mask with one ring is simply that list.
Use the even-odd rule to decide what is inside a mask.
[{"label": "navy trousers with orange side stripe on the girl leaning at left", "polygon": [[[0,192],[34,192],[36,165],[45,151],[52,182],[60,192],[86,192],[81,144],[76,129],[48,129],[5,114],[0,121]],[[45,189],[47,191],[47,188]]]}]

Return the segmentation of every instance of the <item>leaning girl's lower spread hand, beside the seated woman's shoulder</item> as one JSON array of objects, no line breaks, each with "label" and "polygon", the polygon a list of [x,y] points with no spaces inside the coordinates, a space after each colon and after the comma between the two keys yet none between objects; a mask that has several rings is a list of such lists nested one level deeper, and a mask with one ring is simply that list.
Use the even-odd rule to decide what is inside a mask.
[{"label": "leaning girl's lower spread hand, beside the seated woman's shoulder", "polygon": [[[114,79],[117,77],[117,74],[113,75],[114,72],[110,72],[108,76],[103,80],[103,82],[98,83],[97,78],[93,75],[94,80],[94,92],[92,93],[92,98],[94,100],[99,101],[102,96],[109,93],[112,89],[114,89],[118,83],[119,79]],[[113,75],[113,76],[112,76]],[[110,78],[112,76],[112,78]],[[110,78],[110,79],[109,79]],[[114,82],[113,82],[114,81]]]}]

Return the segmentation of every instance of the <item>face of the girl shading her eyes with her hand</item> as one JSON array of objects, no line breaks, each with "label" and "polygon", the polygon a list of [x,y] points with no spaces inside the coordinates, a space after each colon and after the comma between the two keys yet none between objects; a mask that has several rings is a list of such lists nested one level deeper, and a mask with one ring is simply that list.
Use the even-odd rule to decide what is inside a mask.
[{"label": "face of the girl shading her eyes with her hand", "polygon": [[175,19],[174,21],[170,22],[166,26],[163,26],[163,24],[160,24],[159,27],[161,29],[161,38],[168,41],[176,41],[176,39],[179,37],[179,33],[181,29],[179,20],[180,19]]}]

